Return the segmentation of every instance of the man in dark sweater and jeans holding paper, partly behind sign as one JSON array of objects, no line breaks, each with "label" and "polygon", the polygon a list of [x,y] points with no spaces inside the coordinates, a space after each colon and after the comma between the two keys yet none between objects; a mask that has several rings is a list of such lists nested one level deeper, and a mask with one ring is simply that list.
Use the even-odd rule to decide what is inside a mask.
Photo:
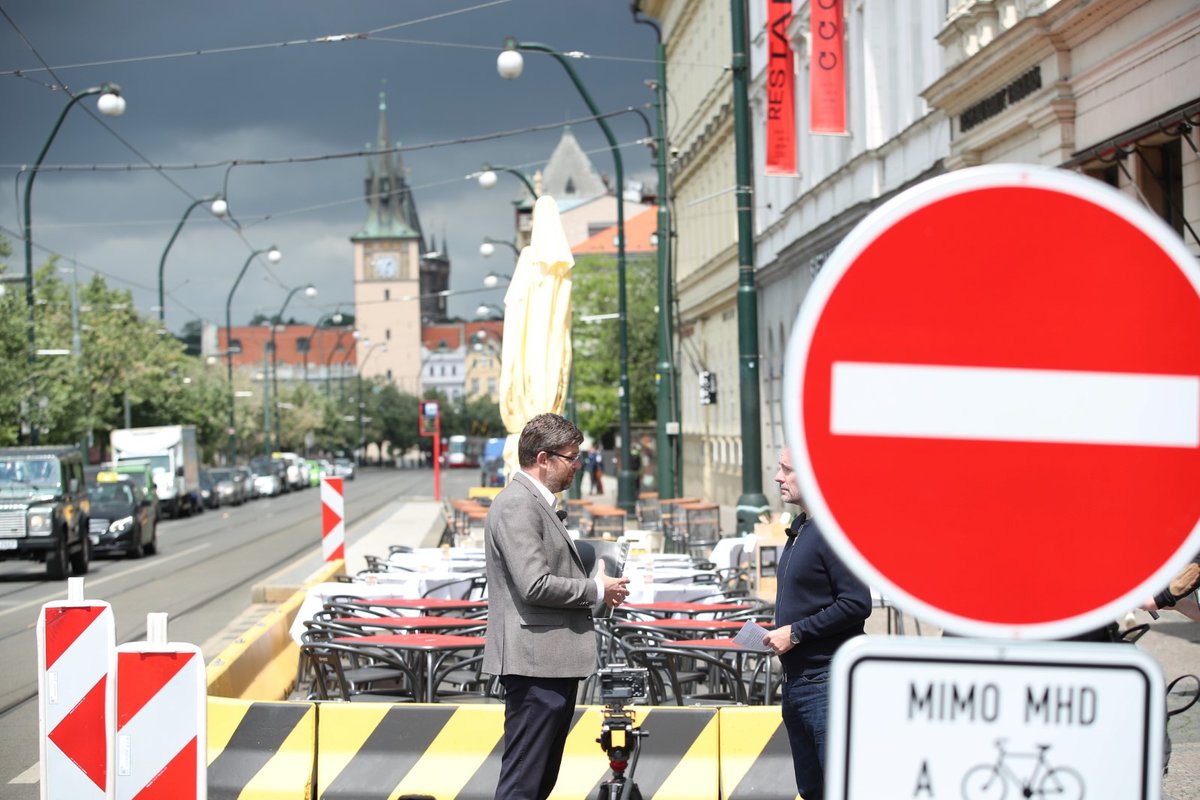
[{"label": "man in dark sweater and jeans holding paper, partly behind sign", "polygon": [[784,503],[800,506],[800,513],[787,529],[775,569],[776,627],[763,643],[784,664],[784,726],[792,745],[796,788],[804,800],[823,800],[829,661],[844,642],[863,633],[871,593],[808,517],[786,447],[779,455],[775,482]]}]

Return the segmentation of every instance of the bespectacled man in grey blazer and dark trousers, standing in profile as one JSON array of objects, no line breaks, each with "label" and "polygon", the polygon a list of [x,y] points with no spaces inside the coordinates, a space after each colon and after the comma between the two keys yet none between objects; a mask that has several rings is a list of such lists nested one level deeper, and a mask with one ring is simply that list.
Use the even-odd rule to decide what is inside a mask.
[{"label": "bespectacled man in grey blazer and dark trousers, standing in profile", "polygon": [[521,431],[521,471],[484,522],[487,644],[484,672],[504,685],[497,800],[545,800],[558,780],[580,680],[595,669],[592,614],[619,606],[628,578],[589,578],[554,512],[580,469],[583,434],[557,414]]}]

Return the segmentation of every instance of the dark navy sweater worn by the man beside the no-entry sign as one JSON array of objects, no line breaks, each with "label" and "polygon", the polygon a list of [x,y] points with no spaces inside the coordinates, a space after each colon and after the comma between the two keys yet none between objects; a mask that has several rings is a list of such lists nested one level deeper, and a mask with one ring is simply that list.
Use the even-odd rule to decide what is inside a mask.
[{"label": "dark navy sweater worn by the man beside the no-entry sign", "polygon": [[829,669],[834,651],[863,633],[871,593],[841,563],[816,523],[798,516],[775,567],[775,626],[791,625],[800,643],[779,657],[788,676]]}]

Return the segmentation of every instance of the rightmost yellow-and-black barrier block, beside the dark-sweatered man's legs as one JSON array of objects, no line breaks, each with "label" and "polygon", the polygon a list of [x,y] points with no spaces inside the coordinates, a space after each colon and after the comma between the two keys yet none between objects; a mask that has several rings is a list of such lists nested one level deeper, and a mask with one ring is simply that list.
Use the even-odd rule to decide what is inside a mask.
[{"label": "rightmost yellow-and-black barrier block, beside the dark-sweatered man's legs", "polygon": [[779,706],[722,708],[719,716],[722,800],[797,800]]}]

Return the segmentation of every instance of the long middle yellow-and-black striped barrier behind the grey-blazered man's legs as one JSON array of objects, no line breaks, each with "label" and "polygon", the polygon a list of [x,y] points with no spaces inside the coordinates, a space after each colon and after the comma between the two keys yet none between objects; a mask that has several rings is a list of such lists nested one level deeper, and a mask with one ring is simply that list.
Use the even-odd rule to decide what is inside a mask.
[{"label": "long middle yellow-and-black striped barrier behind the grey-blazered man's legs", "polygon": [[[642,742],[634,778],[646,800],[718,800],[716,709],[638,708]],[[499,778],[502,705],[319,706],[317,796],[491,800]],[[554,800],[595,798],[608,777],[596,738],[601,709],[576,709]],[[790,763],[788,763],[790,764]],[[788,770],[788,774],[791,771]]]}]

